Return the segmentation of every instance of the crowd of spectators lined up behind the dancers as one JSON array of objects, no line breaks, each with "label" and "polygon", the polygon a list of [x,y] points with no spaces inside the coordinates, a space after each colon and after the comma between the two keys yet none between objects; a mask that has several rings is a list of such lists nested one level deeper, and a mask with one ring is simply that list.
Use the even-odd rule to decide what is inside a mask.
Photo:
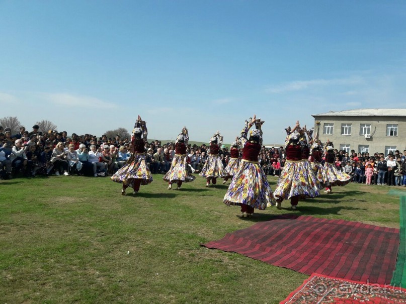
[{"label": "crowd of spectators lined up behind the dancers", "polygon": [[[89,175],[109,176],[121,168],[130,156],[130,139],[97,137],[49,130],[39,132],[38,126],[28,132],[24,127],[17,134],[0,126],[0,178],[43,175]],[[190,165],[200,170],[207,159],[208,147],[203,144],[187,145]],[[175,155],[175,144],[161,144],[153,140],[145,144],[146,163],[153,174],[165,174],[171,167]],[[372,174],[371,184],[406,186],[406,150],[388,155],[375,153],[351,153],[335,150],[335,165],[341,171],[353,176],[353,182],[368,183],[367,175]],[[220,158],[227,165],[229,149],[222,145]],[[240,149],[240,156],[242,150]],[[265,174],[279,176],[285,165],[283,147],[262,147],[258,161]],[[371,173],[372,172],[372,173]]]}]

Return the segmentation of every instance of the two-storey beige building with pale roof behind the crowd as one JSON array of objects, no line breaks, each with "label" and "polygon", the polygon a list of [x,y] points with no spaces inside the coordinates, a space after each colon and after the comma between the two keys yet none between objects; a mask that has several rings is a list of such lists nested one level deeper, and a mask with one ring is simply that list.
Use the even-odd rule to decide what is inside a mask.
[{"label": "two-storey beige building with pale roof behind the crowd", "polygon": [[406,149],[406,109],[356,109],[314,114],[314,136],[327,139],[334,148],[350,152],[375,152]]}]

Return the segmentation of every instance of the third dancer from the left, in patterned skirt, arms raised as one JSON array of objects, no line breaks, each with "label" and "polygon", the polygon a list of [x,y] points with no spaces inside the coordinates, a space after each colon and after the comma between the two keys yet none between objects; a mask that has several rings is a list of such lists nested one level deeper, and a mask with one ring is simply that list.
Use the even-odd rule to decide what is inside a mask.
[{"label": "third dancer from the left, in patterned skirt, arms raised", "polygon": [[217,131],[210,139],[210,149],[208,153],[208,157],[204,166],[202,168],[202,172],[200,172],[200,176],[206,177],[206,187],[210,186],[210,180],[213,185],[217,182],[217,177],[225,178],[230,174],[225,170],[224,165],[221,161],[221,158],[218,156],[218,151],[220,150],[219,145],[223,143],[223,137]]}]

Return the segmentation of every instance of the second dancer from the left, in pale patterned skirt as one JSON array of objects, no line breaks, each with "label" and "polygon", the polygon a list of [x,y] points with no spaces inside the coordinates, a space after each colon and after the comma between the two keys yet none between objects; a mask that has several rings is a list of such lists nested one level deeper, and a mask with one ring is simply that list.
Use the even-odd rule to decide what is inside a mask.
[{"label": "second dancer from the left, in pale patterned skirt", "polygon": [[186,146],[189,142],[188,129],[184,127],[182,133],[180,133],[175,141],[175,156],[172,160],[171,168],[165,174],[164,180],[169,182],[168,189],[172,189],[172,184],[175,182],[178,184],[176,190],[181,189],[183,182],[189,182],[195,180],[195,176],[189,173],[189,168],[192,172],[196,170],[189,164],[188,156],[186,154]]}]

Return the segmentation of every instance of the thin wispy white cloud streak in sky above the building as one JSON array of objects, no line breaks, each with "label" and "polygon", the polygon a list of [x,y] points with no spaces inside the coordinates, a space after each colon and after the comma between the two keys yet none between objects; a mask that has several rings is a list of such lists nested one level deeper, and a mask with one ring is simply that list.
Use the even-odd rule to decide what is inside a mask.
[{"label": "thin wispy white cloud streak in sky above the building", "polygon": [[364,83],[359,76],[337,79],[313,79],[284,82],[266,89],[268,93],[285,93],[289,91],[300,91],[311,87],[335,86],[335,85],[358,85]]}]

